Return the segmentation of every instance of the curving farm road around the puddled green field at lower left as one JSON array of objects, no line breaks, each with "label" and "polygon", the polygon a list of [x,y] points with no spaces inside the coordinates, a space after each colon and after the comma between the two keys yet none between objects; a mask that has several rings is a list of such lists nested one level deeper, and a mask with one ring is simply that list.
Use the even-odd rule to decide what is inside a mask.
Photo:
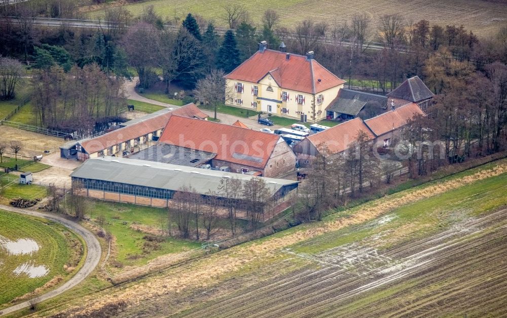
[{"label": "curving farm road around the puddled green field at lower left", "polygon": [[[83,238],[83,240],[86,242],[87,254],[86,254],[85,263],[83,264],[81,269],[77,272],[77,274],[74,275],[73,277],[71,277],[71,279],[68,280],[67,282],[65,282],[65,284],[63,284],[62,286],[60,286],[52,291],[49,291],[45,294],[42,294],[38,297],[35,297],[34,299],[37,302],[41,302],[41,301],[47,300],[49,298],[55,297],[65,291],[75,287],[76,285],[81,283],[98,265],[98,262],[100,260],[100,256],[102,255],[102,248],[100,247],[100,243],[98,242],[97,238],[95,237],[95,235],[92,232],[90,232],[88,229],[84,228],[83,226],[79,225],[78,223],[68,220],[68,219],[65,219],[64,217],[61,217],[59,215],[52,215],[52,214],[46,214],[46,213],[35,212],[35,211],[30,211],[30,210],[23,210],[23,209],[13,208],[13,207],[9,207],[9,206],[4,206],[4,205],[0,205],[0,209],[10,211],[10,212],[16,212],[16,213],[20,213],[20,214],[45,218],[45,219],[48,219],[51,221],[58,222],[58,223],[64,225],[65,227],[73,230],[75,233],[80,235]],[[28,306],[29,306],[29,300],[0,310],[0,315],[11,313],[11,312],[14,312],[16,310],[19,310],[19,309],[22,309],[22,308],[25,308]]]}]

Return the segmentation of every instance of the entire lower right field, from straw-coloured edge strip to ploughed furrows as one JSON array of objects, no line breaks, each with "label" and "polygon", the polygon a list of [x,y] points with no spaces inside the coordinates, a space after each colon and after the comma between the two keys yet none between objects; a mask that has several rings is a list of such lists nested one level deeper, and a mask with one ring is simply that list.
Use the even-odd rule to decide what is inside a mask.
[{"label": "entire lower right field, from straw-coloured edge strip to ploughed furrows", "polygon": [[111,291],[95,294],[63,313],[93,315],[102,301],[123,299],[124,315],[499,315],[506,190],[501,160],[183,263],[115,289],[114,300]]}]

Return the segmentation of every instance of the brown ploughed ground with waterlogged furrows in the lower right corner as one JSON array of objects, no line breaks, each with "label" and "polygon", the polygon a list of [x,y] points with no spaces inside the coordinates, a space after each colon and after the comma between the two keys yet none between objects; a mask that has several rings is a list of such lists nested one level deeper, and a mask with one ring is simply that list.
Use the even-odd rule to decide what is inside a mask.
[{"label": "brown ploughed ground with waterlogged furrows in the lower right corner", "polygon": [[[310,264],[206,303],[184,316],[500,313],[507,306],[502,297],[507,293],[506,248],[504,209],[387,253],[348,245],[315,257],[294,254]],[[359,295],[363,302],[355,302]]]}]

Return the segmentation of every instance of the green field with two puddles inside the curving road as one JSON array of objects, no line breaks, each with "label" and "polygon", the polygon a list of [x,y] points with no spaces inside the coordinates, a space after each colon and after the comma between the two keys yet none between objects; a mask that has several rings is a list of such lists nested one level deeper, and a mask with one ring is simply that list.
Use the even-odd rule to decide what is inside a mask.
[{"label": "green field with two puddles inside the curving road", "polygon": [[[44,290],[60,284],[74,272],[81,259],[82,245],[78,237],[65,227],[54,222],[25,217],[0,210],[0,241],[32,240],[38,250],[31,254],[12,255],[0,247],[0,308],[6,307],[16,297],[30,293],[46,285]],[[26,246],[26,244],[25,244]],[[21,265],[45,266],[47,273],[30,277],[27,273],[15,274]],[[68,269],[66,269],[68,268]],[[40,289],[39,291],[42,291]]]}]

